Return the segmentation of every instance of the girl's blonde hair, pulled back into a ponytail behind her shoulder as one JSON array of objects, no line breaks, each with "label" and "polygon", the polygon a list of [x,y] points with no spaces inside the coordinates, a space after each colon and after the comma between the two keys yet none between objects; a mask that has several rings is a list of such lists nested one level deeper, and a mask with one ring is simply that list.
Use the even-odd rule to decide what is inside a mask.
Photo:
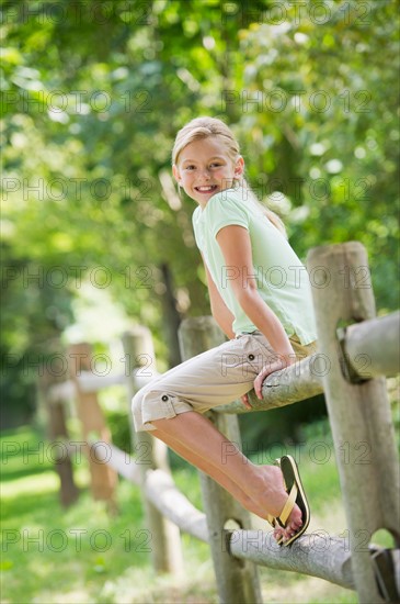
[{"label": "girl's blonde hair, pulled back into a ponytail behind her shoulder", "polygon": [[[186,125],[184,125],[176,134],[175,142],[172,148],[172,164],[178,165],[179,156],[181,152],[190,144],[208,136],[216,136],[225,145],[229,159],[236,164],[238,157],[240,157],[240,147],[238,141],[235,138],[232,131],[227,126],[225,122],[217,118],[195,118]],[[248,181],[244,177],[237,179],[239,186],[243,188],[245,192],[244,199],[253,206],[254,210],[261,211],[271,223],[287,238],[287,233],[284,223],[281,217],[275,214],[268,208],[265,208],[258,200],[254,192],[251,190]]]}]

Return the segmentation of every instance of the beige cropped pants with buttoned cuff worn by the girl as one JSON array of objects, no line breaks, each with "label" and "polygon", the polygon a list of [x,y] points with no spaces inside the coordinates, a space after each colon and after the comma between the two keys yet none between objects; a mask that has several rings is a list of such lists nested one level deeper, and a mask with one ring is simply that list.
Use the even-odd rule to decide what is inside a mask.
[{"label": "beige cropped pants with buttoned cuff worn by the girl", "polygon": [[[290,337],[298,359],[312,355],[317,343],[301,345]],[[155,420],[170,420],[179,413],[205,413],[239,399],[253,388],[253,382],[267,362],[276,359],[261,332],[241,334],[151,380],[133,398],[136,432],[151,430]]]}]

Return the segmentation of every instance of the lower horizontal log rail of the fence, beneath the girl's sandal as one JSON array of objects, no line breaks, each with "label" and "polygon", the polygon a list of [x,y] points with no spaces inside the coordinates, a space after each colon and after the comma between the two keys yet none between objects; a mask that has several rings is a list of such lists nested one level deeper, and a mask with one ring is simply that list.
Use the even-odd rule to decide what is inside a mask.
[{"label": "lower horizontal log rail of the fence, beneath the girl's sandal", "polygon": [[[94,440],[90,441],[92,446],[95,444]],[[107,447],[111,452],[107,463],[133,484],[141,485],[146,497],[164,517],[192,537],[204,543],[209,541],[206,514],[181,493],[169,473],[159,469],[147,470],[146,480],[141,483],[137,460],[114,445]],[[325,532],[306,534],[290,548],[283,548],[276,544],[272,530],[227,529],[222,532],[220,547],[238,559],[250,560],[266,568],[317,577],[354,590],[348,543]],[[372,552],[376,549],[370,546]],[[393,559],[393,563],[400,572],[400,560]]]}]

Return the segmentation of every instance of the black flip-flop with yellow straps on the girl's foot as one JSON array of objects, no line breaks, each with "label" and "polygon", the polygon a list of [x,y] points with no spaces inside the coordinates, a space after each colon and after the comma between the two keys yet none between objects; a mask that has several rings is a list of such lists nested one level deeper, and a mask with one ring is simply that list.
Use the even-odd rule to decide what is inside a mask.
[{"label": "black flip-flop with yellow straps on the girl's foot", "polygon": [[301,511],[302,526],[298,529],[298,532],[295,533],[295,535],[293,535],[287,541],[284,541],[284,537],[281,537],[281,539],[276,541],[278,545],[289,546],[307,530],[310,523],[310,510],[301,484],[297,463],[294,458],[290,455],[284,455],[279,460],[275,460],[275,463],[279,466],[282,470],[285,481],[285,490],[289,496],[279,516],[267,516],[268,523],[274,528],[276,528],[277,525],[286,528],[287,519],[295,504],[297,504]]}]

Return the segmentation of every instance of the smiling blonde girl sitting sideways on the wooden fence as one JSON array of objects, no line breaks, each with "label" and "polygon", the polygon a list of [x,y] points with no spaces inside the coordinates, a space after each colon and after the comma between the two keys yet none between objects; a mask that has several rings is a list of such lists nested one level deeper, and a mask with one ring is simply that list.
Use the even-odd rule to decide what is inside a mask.
[{"label": "smiling blonde girl sitting sideways on the wooden fence", "polygon": [[249,189],[239,145],[224,122],[186,124],[172,165],[179,187],[197,203],[193,227],[212,312],[229,342],[142,388],[133,399],[135,427],[152,430],[289,545],[309,522],[295,461],[285,456],[279,467],[255,466],[240,451],[222,458],[230,443],[203,414],[238,398],[251,409],[252,387],[262,399],[266,376],[315,351],[309,281],[282,222]]}]

